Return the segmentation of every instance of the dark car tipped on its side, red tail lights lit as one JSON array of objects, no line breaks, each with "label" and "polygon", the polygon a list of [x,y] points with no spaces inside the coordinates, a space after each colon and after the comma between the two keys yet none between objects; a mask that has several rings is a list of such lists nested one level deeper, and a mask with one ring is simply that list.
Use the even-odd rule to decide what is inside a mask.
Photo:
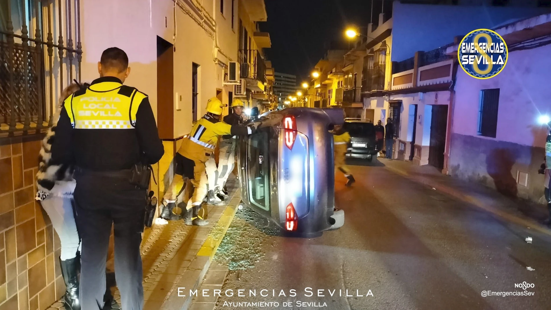
[{"label": "dark car tipped on its side, red tail lights lit", "polygon": [[237,140],[242,202],[292,236],[341,227],[329,130],[344,122],[342,109],[290,107],[255,121],[257,132]]}]

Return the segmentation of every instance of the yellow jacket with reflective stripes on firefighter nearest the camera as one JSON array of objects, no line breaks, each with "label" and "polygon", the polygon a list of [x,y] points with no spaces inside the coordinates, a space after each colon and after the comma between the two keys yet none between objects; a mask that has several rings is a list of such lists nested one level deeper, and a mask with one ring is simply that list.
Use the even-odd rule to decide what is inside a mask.
[{"label": "yellow jacket with reflective stripes on firefighter nearest the camera", "polygon": [[213,153],[220,135],[231,133],[231,125],[204,115],[183,139],[178,153],[191,160],[206,162]]}]

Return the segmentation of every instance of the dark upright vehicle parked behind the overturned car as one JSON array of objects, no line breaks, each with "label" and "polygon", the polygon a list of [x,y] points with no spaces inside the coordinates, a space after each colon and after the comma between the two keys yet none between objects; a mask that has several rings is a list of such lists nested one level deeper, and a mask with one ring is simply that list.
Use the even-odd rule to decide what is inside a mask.
[{"label": "dark upright vehicle parked behind the overturned car", "polygon": [[376,149],[375,127],[369,119],[346,118],[344,129],[350,134],[347,157],[373,161],[380,150]]}]

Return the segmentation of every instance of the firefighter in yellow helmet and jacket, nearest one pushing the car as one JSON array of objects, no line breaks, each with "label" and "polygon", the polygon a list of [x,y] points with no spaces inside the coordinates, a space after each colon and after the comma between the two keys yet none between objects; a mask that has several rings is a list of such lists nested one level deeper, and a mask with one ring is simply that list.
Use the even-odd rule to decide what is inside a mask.
[{"label": "firefighter in yellow helmet and jacket, nearest one pushing the car", "polygon": [[[210,159],[220,135],[251,134],[256,127],[226,124],[220,121],[224,105],[217,97],[207,102],[207,113],[197,121],[188,137],[174,156],[175,176],[163,198],[164,209],[161,217],[170,220],[176,198],[187,180],[193,184],[193,195],[188,200],[184,220],[186,225],[203,226],[208,220],[199,216],[199,209],[207,195],[207,174],[205,163]],[[253,125],[257,126],[257,125]]]}]

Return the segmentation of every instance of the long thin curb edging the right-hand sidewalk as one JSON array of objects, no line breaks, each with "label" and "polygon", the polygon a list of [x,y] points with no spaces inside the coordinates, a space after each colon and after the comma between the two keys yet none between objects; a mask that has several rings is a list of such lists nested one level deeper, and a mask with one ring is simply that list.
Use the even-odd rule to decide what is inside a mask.
[{"label": "long thin curb edging the right-hand sidewalk", "polygon": [[385,167],[388,170],[391,170],[392,172],[396,173],[397,175],[401,175],[405,178],[408,178],[409,180],[412,180],[414,182],[417,182],[417,183],[423,184],[425,186],[431,187],[431,188],[433,188],[437,191],[440,191],[442,193],[445,193],[445,194],[448,194],[452,197],[460,199],[463,202],[466,202],[466,203],[472,204],[474,206],[477,206],[478,208],[483,209],[484,211],[488,211],[489,213],[492,213],[496,216],[502,217],[503,219],[505,219],[507,221],[514,222],[517,225],[530,227],[531,229],[534,229],[534,230],[536,230],[538,232],[541,232],[545,235],[551,236],[551,230],[548,229],[547,227],[539,224],[536,221],[523,219],[522,217],[519,217],[515,214],[511,214],[511,213],[506,212],[506,211],[495,209],[492,206],[489,206],[489,205],[484,204],[483,202],[480,202],[480,200],[478,200],[476,197],[473,197],[473,196],[467,195],[467,194],[463,194],[459,191],[456,191],[453,188],[447,187],[447,186],[442,185],[440,183],[431,183],[431,182],[426,181],[422,178],[414,177],[414,176],[410,175],[409,173],[407,173],[405,171],[402,171],[402,170],[399,170],[398,168],[395,168],[395,167],[391,167],[391,166],[388,166],[388,165],[385,165]]}]

